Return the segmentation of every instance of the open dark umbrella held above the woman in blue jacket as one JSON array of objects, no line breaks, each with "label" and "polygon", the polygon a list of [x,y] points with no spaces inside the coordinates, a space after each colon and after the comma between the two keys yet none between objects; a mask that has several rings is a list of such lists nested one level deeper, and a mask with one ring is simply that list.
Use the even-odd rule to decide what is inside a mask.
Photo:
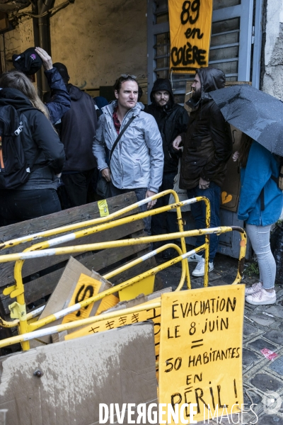
[{"label": "open dark umbrella held above the woman in blue jacket", "polygon": [[283,102],[248,84],[209,93],[226,121],[283,156]]}]

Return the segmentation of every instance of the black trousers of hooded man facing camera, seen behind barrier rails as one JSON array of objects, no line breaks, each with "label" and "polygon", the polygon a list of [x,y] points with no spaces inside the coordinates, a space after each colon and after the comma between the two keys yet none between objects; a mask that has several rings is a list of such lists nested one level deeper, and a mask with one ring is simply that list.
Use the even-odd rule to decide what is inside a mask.
[{"label": "black trousers of hooded man facing camera, seen behind barrier rails", "polygon": [[[162,185],[159,192],[173,189],[174,177],[177,173],[163,173]],[[158,198],[154,208],[165,207],[169,203],[170,195]],[[151,217],[151,234],[163,234],[178,232],[176,212],[161,212]],[[157,244],[169,244],[174,241],[157,242]]]}]

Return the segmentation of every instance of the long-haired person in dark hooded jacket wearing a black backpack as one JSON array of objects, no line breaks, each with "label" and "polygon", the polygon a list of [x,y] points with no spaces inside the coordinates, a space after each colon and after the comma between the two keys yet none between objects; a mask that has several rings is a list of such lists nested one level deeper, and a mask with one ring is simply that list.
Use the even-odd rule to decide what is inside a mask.
[{"label": "long-haired person in dark hooded jacket wearing a black backpack", "polygon": [[11,225],[61,210],[57,187],[64,165],[64,146],[52,127],[47,109],[28,77],[18,70],[0,77],[1,106],[21,113],[21,142],[30,169],[28,181],[15,189],[0,190],[2,225]]}]

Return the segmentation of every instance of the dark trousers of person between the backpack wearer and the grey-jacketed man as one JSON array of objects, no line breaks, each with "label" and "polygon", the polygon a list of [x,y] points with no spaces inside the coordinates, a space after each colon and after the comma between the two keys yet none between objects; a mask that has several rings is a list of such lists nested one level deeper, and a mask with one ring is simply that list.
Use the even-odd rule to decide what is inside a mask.
[{"label": "dark trousers of person between the backpack wearer and the grey-jacketed man", "polygon": [[62,174],[61,180],[64,184],[59,187],[59,197],[64,210],[87,203],[88,186],[93,172],[94,169],[81,173]]}]

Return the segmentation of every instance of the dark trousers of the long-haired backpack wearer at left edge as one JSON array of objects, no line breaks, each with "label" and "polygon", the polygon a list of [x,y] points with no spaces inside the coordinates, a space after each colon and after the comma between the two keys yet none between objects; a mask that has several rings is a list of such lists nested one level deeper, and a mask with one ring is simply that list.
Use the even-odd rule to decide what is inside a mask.
[{"label": "dark trousers of the long-haired backpack wearer at left edge", "polygon": [[1,225],[13,225],[61,211],[55,189],[0,190],[0,199]]}]

